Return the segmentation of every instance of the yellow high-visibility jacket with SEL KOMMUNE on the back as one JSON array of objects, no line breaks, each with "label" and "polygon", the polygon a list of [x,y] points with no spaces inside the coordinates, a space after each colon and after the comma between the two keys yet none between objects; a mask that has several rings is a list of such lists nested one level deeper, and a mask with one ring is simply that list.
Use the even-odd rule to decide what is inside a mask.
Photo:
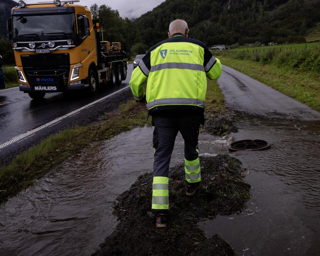
[{"label": "yellow high-visibility jacket with SEL KOMMUNE on the back", "polygon": [[204,43],[176,33],[154,45],[132,72],[129,82],[136,100],[144,97],[149,113],[159,110],[204,111],[207,79],[218,79],[221,63]]}]

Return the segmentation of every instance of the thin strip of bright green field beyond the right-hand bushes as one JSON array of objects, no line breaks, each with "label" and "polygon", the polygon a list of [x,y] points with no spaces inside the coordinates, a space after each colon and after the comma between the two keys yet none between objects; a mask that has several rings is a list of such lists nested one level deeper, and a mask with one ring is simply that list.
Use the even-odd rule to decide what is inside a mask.
[{"label": "thin strip of bright green field beyond the right-hand bushes", "polygon": [[248,47],[248,48],[236,48],[236,49],[229,49],[224,51],[231,51],[231,52],[240,52],[240,51],[268,51],[269,49],[275,51],[283,51],[283,50],[303,50],[312,47],[320,47],[320,43],[304,43],[304,44],[277,44],[277,45],[268,45],[268,46],[260,46],[260,47]]}]

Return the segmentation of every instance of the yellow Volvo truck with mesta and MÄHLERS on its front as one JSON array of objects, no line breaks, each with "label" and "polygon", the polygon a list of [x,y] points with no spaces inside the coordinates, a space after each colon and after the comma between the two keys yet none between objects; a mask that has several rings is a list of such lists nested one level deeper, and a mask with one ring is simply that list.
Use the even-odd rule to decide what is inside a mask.
[{"label": "yellow Volvo truck with mesta and M\u00c4HLERS on its front", "polygon": [[47,92],[78,89],[94,95],[99,84],[116,86],[126,79],[125,44],[117,42],[119,47],[102,53],[99,21],[76,2],[19,1],[11,10],[7,33],[19,89],[33,99],[42,99]]}]

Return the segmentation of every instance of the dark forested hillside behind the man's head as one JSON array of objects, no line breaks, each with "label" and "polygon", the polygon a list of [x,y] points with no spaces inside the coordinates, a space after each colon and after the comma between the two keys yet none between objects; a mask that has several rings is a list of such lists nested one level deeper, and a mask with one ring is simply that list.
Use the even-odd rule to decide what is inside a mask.
[{"label": "dark forested hillside behind the man's head", "polygon": [[184,19],[190,37],[207,45],[303,42],[320,21],[319,0],[167,0],[134,23],[143,43],[163,40],[171,20]]}]

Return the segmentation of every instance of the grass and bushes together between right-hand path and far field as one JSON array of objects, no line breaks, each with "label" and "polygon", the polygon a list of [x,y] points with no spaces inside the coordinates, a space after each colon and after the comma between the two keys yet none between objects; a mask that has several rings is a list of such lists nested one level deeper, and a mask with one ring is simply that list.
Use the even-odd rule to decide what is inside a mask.
[{"label": "grass and bushes together between right-hand path and far field", "polygon": [[234,68],[320,111],[320,47],[300,51],[215,51]]}]

